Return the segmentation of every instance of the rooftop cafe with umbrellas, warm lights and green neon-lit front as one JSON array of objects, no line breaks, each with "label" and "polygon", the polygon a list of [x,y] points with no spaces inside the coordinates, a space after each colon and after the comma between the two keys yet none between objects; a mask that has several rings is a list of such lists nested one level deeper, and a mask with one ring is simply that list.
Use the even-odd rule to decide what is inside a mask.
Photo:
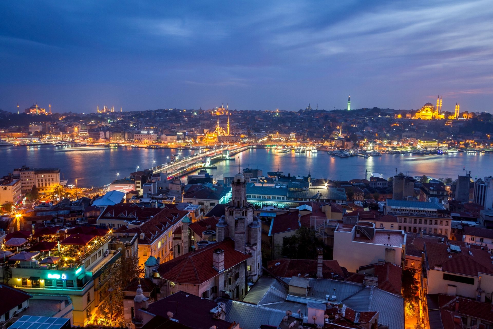
[{"label": "rooftop cafe with umbrellas, warm lights and green neon-lit front", "polygon": [[38,227],[5,237],[0,266],[11,270],[10,283],[24,288],[84,286],[106,262],[111,231],[106,227]]}]

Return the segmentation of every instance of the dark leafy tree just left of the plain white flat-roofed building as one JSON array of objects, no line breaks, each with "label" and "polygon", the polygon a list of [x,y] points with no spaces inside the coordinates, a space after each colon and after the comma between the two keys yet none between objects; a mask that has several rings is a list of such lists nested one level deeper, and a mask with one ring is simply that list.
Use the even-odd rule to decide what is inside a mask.
[{"label": "dark leafy tree just left of the plain white flat-roofed building", "polygon": [[314,230],[300,227],[294,235],[284,238],[282,256],[292,259],[315,259],[317,248],[323,247],[323,242],[317,238]]}]

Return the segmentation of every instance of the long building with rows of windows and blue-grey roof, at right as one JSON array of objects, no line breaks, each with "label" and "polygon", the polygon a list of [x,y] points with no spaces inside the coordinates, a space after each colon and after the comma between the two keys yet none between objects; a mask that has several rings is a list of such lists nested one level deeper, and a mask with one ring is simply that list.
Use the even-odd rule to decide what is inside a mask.
[{"label": "long building with rows of windows and blue-grey roof, at right", "polygon": [[[384,215],[397,217],[397,230],[413,233],[442,234],[451,237],[450,211],[438,202],[387,199]],[[395,228],[395,227],[394,227]]]}]

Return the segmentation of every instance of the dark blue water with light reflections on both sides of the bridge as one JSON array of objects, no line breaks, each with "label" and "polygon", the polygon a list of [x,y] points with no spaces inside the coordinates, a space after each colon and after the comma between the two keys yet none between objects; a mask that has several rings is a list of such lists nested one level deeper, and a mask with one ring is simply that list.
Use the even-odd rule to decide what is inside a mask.
[{"label": "dark blue water with light reflections on both sides of the bridge", "polygon": [[[188,150],[180,151],[183,155]],[[193,152],[193,151],[192,151]],[[0,176],[12,172],[22,165],[31,167],[58,167],[62,178],[73,184],[75,179],[79,186],[102,186],[115,179],[116,173],[120,178],[129,176],[131,172],[150,168],[155,164],[169,161],[169,156],[177,154],[175,149],[148,148],[107,148],[103,150],[59,150],[54,146],[25,147],[16,146],[0,149]],[[434,178],[451,177],[456,179],[462,175],[465,166],[471,171],[472,178],[483,178],[493,175],[493,153],[468,154],[465,152],[451,153],[429,159],[416,158],[410,154],[383,154],[379,157],[364,159],[359,156],[348,158],[331,157],[325,151],[318,153],[279,153],[276,150],[255,148],[246,150],[240,155],[239,161],[220,161],[215,163],[217,169],[208,169],[215,180],[224,176],[234,176],[238,173],[238,163],[241,168],[251,166],[262,169],[264,175],[278,169],[291,176],[307,175],[314,178],[331,180],[364,179],[365,170],[368,177],[371,173],[382,174],[384,178],[398,172],[411,176],[428,175]],[[237,156],[238,157],[238,156]],[[414,158],[413,158],[414,157]],[[153,164],[153,161],[156,161]]]}]

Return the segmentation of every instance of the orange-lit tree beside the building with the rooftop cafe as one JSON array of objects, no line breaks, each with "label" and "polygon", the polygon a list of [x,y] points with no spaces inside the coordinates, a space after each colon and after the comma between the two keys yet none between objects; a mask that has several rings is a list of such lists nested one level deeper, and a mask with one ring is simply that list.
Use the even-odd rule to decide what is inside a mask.
[{"label": "orange-lit tree beside the building with the rooftop cafe", "polygon": [[113,264],[106,267],[101,274],[101,304],[99,313],[104,325],[128,328],[123,318],[123,289],[134,278],[142,276],[144,270],[139,267],[137,255],[125,257],[122,255]]}]

